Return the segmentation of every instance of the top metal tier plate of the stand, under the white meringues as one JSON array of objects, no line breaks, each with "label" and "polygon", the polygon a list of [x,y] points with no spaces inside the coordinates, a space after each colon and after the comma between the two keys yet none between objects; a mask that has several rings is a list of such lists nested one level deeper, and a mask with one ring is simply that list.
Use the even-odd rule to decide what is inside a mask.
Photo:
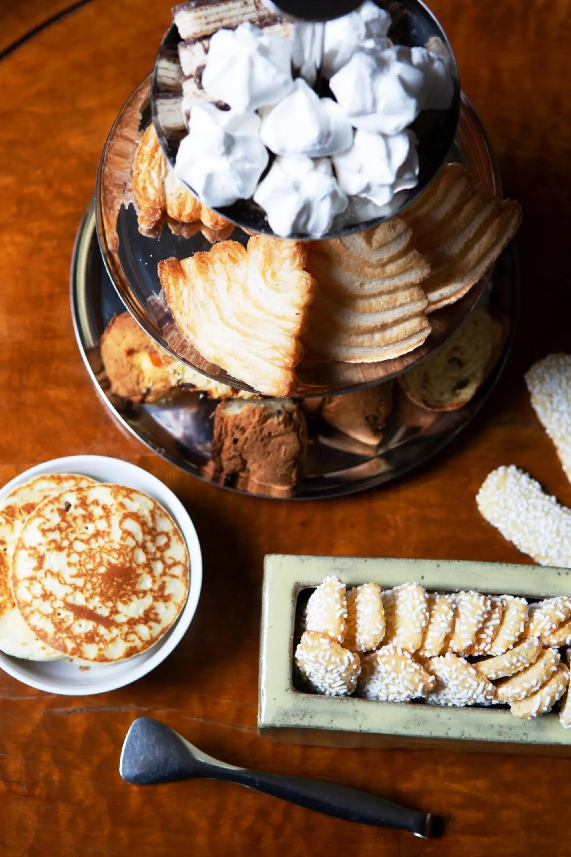
[{"label": "top metal tier plate of the stand, under the white meringues", "polygon": [[[416,197],[422,193],[426,185],[431,182],[439,167],[446,159],[449,147],[455,137],[460,110],[460,79],[454,57],[454,52],[449,40],[440,26],[437,18],[432,15],[424,3],[419,0],[401,0],[400,3],[392,3],[390,8],[393,22],[389,29],[389,38],[398,45],[407,47],[424,46],[429,39],[439,39],[444,50],[449,56],[450,77],[454,87],[454,93],[450,105],[446,110],[423,111],[414,121],[411,128],[417,138],[417,151],[419,153],[419,181],[411,189],[402,190],[397,194],[383,216],[368,220],[364,223],[345,225],[343,216],[333,221],[330,232],[323,238],[333,238],[349,235],[377,226],[384,220],[398,214],[406,208]],[[309,11],[309,9],[307,9]],[[293,21],[279,15],[271,15],[267,9],[264,10],[264,21],[254,21],[264,26],[278,27],[280,33],[293,39]],[[279,23],[277,23],[279,21]],[[198,33],[197,39],[204,37],[204,33]],[[205,39],[204,39],[205,40]],[[151,85],[151,108],[152,121],[157,130],[158,141],[163,148],[166,159],[170,166],[175,165],[176,153],[181,138],[187,134],[187,126],[183,117],[183,86],[184,74],[178,56],[178,44],[181,41],[178,29],[173,23],[164,34],[163,41],[158,49],[155,67],[152,72]],[[200,68],[200,67],[199,67]],[[199,69],[197,69],[197,74]],[[194,93],[195,85],[189,81]],[[326,86],[326,84],[325,84]],[[200,91],[198,91],[199,95]],[[321,92],[320,94],[330,94]],[[192,188],[191,188],[192,190]],[[270,224],[265,216],[263,208],[259,207],[253,200],[239,200],[234,205],[217,208],[217,211],[247,231],[263,232],[273,235]],[[306,239],[305,234],[292,235],[292,238]]]}]

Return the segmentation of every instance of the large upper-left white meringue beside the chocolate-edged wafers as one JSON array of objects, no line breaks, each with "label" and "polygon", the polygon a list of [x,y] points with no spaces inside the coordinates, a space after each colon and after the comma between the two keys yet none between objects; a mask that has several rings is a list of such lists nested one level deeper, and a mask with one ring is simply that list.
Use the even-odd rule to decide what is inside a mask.
[{"label": "large upper-left white meringue beside the chocolate-edged wafers", "polygon": [[273,105],[294,86],[292,42],[253,24],[218,30],[210,40],[202,74],[205,93],[244,113]]}]

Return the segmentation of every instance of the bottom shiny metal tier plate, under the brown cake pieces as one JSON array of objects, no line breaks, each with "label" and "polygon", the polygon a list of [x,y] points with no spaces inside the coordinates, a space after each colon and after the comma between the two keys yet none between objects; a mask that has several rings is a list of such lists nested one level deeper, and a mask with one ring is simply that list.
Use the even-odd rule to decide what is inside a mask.
[{"label": "bottom shiny metal tier plate, under the brown cake pieces", "polygon": [[[106,273],[95,236],[92,206],[86,210],[75,242],[71,268],[74,328],[93,385],[123,429],[158,455],[192,476],[210,481],[208,464],[212,414],[217,402],[192,389],[177,389],[152,404],[133,405],[110,392],[101,361],[100,339],[115,313],[124,311]],[[502,374],[509,356],[519,306],[519,279],[514,243],[504,251],[485,286],[482,301],[503,323],[503,349],[484,384],[458,411],[431,412],[413,405],[393,385],[394,408],[378,446],[352,440],[324,422],[312,408],[314,399],[299,399],[306,412],[306,464],[288,499],[319,500],[354,494],[399,478],[440,452],[471,422]],[[236,490],[232,484],[225,488]],[[247,494],[240,490],[238,493]],[[283,497],[283,494],[264,496]]]}]

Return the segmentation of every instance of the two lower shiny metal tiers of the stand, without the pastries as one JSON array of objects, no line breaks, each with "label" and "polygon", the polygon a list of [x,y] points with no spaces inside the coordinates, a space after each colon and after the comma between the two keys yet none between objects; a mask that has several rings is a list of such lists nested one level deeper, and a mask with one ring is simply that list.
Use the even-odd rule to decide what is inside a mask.
[{"label": "two lower shiny metal tiers of the stand, without the pastries", "polygon": [[[172,29],[172,28],[171,28]],[[160,52],[159,52],[160,56]],[[193,369],[231,387],[249,389],[208,363],[178,332],[161,294],[158,261],[185,258],[210,243],[198,233],[175,236],[168,226],[158,238],[140,234],[131,193],[131,165],[142,130],[152,121],[151,75],[142,81],[116,118],[98,170],[94,206],[86,208],[71,268],[71,304],[81,355],[93,384],[116,420],[152,450],[193,476],[208,481],[212,415],[217,403],[192,389],[177,389],[152,404],[134,406],[110,393],[99,343],[115,313],[125,309],[154,341]],[[159,135],[160,136],[160,135]],[[501,195],[501,178],[485,129],[462,95],[449,160],[460,160],[480,182]],[[232,239],[246,244],[240,227]],[[475,416],[491,393],[509,355],[518,312],[519,282],[513,243],[491,273],[450,307],[430,315],[432,333],[404,357],[380,363],[341,363],[315,357],[297,369],[294,397],[304,400],[309,446],[303,475],[291,499],[351,494],[390,482],[443,449]],[[487,303],[503,322],[502,353],[473,399],[458,411],[431,413],[412,405],[398,384],[395,405],[377,446],[368,446],[328,426],[311,399],[339,395],[393,381],[437,350],[466,321],[477,303]],[[231,490],[231,485],[225,486]],[[241,491],[240,493],[245,493]],[[271,494],[268,494],[269,496]]]}]

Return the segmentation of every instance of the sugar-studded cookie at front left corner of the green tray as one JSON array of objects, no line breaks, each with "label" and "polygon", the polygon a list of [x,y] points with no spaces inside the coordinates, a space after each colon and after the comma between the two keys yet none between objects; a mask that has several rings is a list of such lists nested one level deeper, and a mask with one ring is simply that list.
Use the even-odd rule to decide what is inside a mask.
[{"label": "sugar-studded cookie at front left corner of the green tray", "polygon": [[357,685],[360,657],[325,634],[306,631],[295,650],[295,665],[310,686],[325,696],[347,696]]}]

